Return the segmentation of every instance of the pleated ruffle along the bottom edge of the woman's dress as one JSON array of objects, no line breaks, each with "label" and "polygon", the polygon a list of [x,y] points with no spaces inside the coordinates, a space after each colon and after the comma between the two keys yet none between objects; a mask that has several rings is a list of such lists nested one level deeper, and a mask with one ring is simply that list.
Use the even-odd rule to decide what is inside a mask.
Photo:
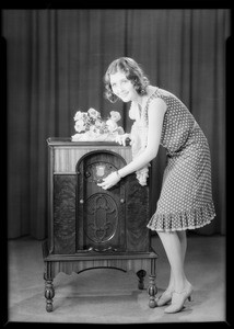
[{"label": "pleated ruffle along the bottom edge of the woman's dress", "polygon": [[196,229],[211,223],[215,217],[213,202],[199,208],[179,212],[176,214],[157,214],[155,213],[147,227],[151,230],[175,231]]}]

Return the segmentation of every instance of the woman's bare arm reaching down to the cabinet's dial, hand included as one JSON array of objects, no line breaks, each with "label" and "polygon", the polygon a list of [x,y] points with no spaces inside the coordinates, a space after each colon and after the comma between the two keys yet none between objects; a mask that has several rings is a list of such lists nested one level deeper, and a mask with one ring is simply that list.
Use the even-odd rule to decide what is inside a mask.
[{"label": "woman's bare arm reaching down to the cabinet's dial, hand included", "polygon": [[[156,157],[160,147],[165,112],[166,103],[162,99],[156,98],[151,101],[148,109],[149,128],[147,147],[139,157],[118,170],[121,178],[143,168],[147,163],[149,163]],[[103,182],[98,184],[98,186],[102,186],[106,190],[115,185],[118,181],[118,175],[113,172],[108,177],[106,177]]]}]

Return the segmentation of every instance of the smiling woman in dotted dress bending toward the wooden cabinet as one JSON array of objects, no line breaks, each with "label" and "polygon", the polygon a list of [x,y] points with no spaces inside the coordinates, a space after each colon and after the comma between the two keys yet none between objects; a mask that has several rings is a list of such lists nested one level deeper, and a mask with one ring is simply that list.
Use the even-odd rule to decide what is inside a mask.
[{"label": "smiling woman in dotted dress bending toward the wooden cabinet", "polygon": [[131,134],[121,136],[118,143],[126,145],[130,137],[133,159],[98,185],[109,189],[132,172],[144,184],[148,166],[156,157],[159,146],[166,149],[162,191],[148,228],[157,231],[171,265],[169,283],[157,298],[157,306],[171,302],[165,313],[177,313],[194,292],[184,271],[186,230],[202,227],[215,216],[208,141],[185,104],[168,91],[150,86],[133,59],[114,60],[104,81],[110,102],[131,102],[129,115],[134,124]]}]

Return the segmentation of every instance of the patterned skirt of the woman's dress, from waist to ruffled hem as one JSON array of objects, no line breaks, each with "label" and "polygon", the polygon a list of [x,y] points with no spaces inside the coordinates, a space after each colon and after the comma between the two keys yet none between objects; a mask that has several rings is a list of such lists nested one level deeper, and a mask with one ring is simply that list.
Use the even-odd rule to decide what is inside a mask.
[{"label": "patterned skirt of the woman's dress, from waist to ruffled hem", "polygon": [[197,129],[183,149],[167,154],[161,195],[148,228],[196,229],[210,224],[214,216],[209,145]]}]

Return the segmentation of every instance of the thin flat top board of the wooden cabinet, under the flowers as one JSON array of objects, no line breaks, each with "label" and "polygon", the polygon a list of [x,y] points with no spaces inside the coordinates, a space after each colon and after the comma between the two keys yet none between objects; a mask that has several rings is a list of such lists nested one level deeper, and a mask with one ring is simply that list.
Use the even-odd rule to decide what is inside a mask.
[{"label": "thin flat top board of the wooden cabinet, under the flowers", "polygon": [[50,146],[112,146],[112,147],[122,147],[121,145],[119,145],[116,141],[72,141],[70,137],[49,137],[49,138],[47,138],[47,144],[50,145]]}]

